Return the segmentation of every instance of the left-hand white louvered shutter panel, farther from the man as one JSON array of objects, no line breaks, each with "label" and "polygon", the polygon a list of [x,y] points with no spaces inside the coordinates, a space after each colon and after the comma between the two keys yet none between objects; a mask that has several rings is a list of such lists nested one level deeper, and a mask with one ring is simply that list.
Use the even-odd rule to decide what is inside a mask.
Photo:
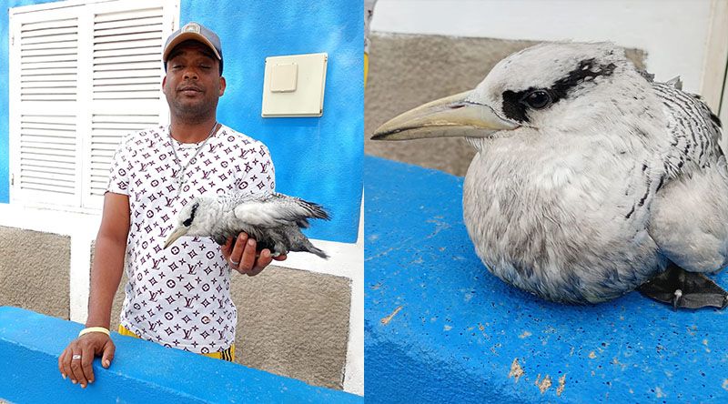
[{"label": "left-hand white louvered shutter panel, farther from the man", "polygon": [[78,16],[72,7],[13,19],[10,155],[23,200],[80,203]]}]

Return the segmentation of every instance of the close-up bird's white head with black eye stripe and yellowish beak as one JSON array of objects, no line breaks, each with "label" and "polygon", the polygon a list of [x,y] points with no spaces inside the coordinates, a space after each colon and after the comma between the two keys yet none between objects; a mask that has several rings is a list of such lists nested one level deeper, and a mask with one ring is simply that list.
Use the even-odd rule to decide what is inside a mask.
[{"label": "close-up bird's white head with black eye stripe and yellowish beak", "polygon": [[474,89],[389,120],[372,139],[583,133],[619,116],[618,108],[628,108],[635,96],[642,99],[645,86],[615,45],[535,45],[501,60]]}]

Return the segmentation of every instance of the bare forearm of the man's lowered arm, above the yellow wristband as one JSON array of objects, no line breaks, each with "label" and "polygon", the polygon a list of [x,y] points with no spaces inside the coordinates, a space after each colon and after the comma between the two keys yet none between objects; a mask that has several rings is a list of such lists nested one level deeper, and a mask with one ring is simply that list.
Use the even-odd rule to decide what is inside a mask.
[{"label": "bare forearm of the man's lowered arm, above the yellow wristband", "polygon": [[114,295],[124,270],[125,253],[126,239],[101,234],[96,238],[86,327],[109,328]]}]

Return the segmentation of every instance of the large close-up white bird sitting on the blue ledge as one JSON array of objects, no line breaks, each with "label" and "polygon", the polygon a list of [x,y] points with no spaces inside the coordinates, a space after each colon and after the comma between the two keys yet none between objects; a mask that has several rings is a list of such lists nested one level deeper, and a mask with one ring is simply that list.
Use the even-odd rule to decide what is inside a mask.
[{"label": "large close-up white bird sitting on the blue ledge", "polygon": [[486,268],[547,300],[632,290],[672,308],[725,308],[720,119],[679,77],[660,83],[609,42],[505,57],[475,88],[396,116],[375,140],[464,136],[477,153],[463,221]]}]

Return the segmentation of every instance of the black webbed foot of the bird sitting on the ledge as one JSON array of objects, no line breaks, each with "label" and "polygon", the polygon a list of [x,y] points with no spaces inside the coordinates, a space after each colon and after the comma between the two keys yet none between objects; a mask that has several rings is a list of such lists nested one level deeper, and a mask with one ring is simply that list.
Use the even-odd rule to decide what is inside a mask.
[{"label": "black webbed foot of the bird sitting on the ledge", "polygon": [[637,290],[642,295],[677,308],[725,308],[728,292],[711,278],[688,272],[672,262],[662,274],[648,280]]}]

